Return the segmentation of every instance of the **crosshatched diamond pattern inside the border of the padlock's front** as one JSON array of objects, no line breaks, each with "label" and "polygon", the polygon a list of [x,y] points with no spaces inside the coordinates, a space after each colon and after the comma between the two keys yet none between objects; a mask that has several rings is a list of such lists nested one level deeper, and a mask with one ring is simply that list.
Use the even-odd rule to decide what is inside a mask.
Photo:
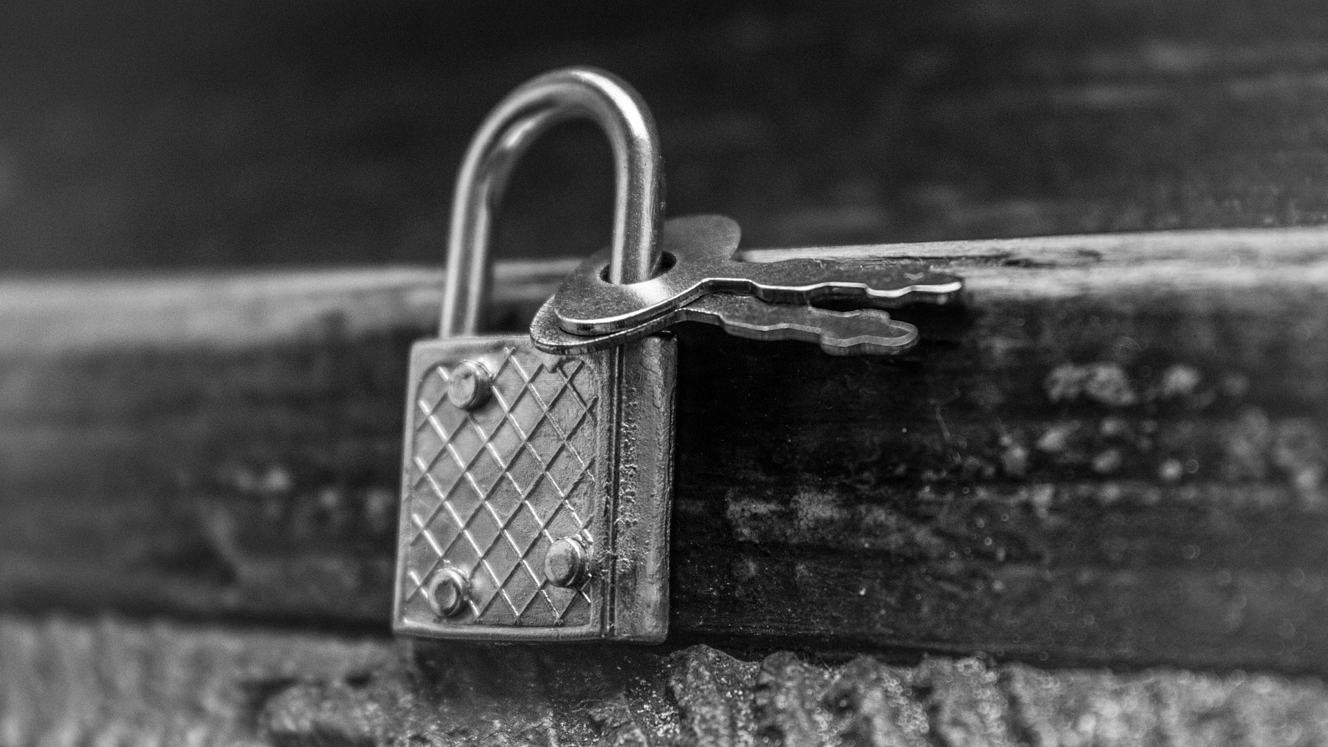
[{"label": "crosshatched diamond pattern inside the border of the padlock's front", "polygon": [[588,622],[586,587],[550,585],[543,560],[554,540],[595,522],[599,384],[584,360],[554,367],[544,360],[505,348],[491,366],[493,396],[471,412],[446,397],[449,366],[424,371],[408,473],[408,609],[428,610],[416,602],[446,564],[466,572],[471,585],[470,610],[449,622]]}]

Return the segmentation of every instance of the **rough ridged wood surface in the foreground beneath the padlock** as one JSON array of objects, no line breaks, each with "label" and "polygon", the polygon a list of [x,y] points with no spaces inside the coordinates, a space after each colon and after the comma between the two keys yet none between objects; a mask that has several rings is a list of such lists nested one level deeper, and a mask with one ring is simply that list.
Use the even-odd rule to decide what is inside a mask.
[{"label": "rough ridged wood surface in the foreground beneath the padlock", "polygon": [[3,744],[1309,746],[1317,678],[0,617]]}]

